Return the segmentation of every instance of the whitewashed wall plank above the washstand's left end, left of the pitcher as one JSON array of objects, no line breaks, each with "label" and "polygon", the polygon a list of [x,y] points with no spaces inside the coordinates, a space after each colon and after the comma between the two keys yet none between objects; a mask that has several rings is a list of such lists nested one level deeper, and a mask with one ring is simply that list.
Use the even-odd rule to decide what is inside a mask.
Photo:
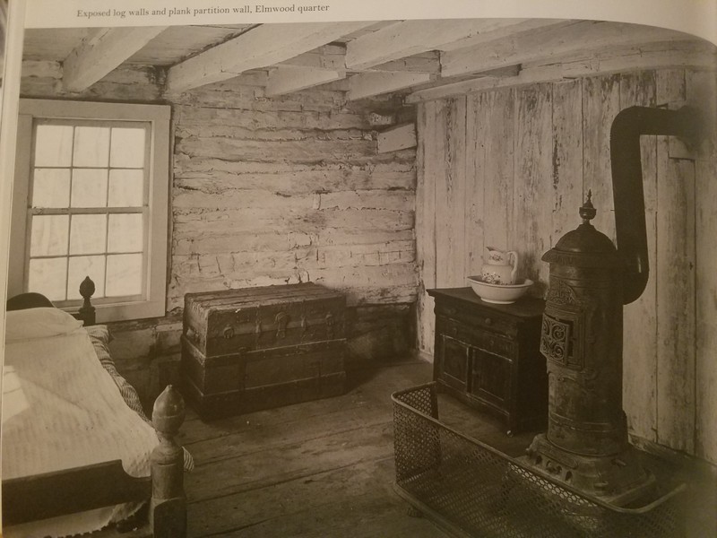
[{"label": "whitewashed wall plank above the washstand's left end, left of the pitcher", "polygon": [[465,282],[466,98],[447,100],[443,110],[445,174],[436,183],[436,283],[453,287]]}]

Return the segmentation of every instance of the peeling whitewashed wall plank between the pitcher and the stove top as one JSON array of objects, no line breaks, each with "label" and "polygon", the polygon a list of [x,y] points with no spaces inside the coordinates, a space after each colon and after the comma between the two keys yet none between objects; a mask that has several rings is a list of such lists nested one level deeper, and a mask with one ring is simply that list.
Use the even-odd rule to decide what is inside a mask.
[{"label": "peeling whitewashed wall plank between the pitcher and the stove top", "polygon": [[550,244],[553,199],[552,85],[515,90],[515,181],[512,247],[521,256],[522,278],[547,282],[540,261]]}]

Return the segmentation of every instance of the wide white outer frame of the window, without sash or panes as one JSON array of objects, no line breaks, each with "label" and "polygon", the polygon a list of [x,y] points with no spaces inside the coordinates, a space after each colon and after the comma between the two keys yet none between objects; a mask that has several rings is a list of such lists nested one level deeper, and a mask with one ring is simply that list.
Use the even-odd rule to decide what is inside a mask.
[{"label": "wide white outer frame of the window, without sash or panes", "polygon": [[[22,256],[11,256],[8,273],[8,294],[22,293],[27,281],[25,270],[29,258],[30,216],[30,169],[33,143],[33,126],[41,120],[84,120],[149,122],[150,147],[148,166],[148,230],[146,262],[143,267],[143,297],[140,300],[98,299],[100,323],[161,317],[166,313],[167,261],[168,261],[168,213],[169,213],[169,126],[171,107],[168,105],[145,105],[108,103],[95,101],[21,99],[18,117],[18,138],[13,186],[13,222],[11,226],[10,251]],[[70,282],[69,285],[73,285]],[[80,282],[76,282],[79,287]],[[68,311],[77,304],[61,306]]]}]

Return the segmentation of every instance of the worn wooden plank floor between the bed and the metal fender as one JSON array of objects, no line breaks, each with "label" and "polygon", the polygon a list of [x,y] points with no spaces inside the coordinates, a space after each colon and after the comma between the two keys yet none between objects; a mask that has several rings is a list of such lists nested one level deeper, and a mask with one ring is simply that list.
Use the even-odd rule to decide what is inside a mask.
[{"label": "worn wooden plank floor between the bed and the metal fender", "polygon": [[[410,361],[356,372],[346,395],[212,423],[190,413],[181,439],[196,462],[189,535],[445,536],[393,491],[391,394],[430,381],[431,369]],[[496,421],[480,428],[518,452],[532,437],[508,438]]]}]

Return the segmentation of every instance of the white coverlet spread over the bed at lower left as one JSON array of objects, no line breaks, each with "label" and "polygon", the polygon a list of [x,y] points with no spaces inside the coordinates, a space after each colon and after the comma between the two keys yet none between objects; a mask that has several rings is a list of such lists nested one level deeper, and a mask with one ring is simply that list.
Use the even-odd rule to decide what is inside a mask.
[{"label": "white coverlet spread over the bed at lower left", "polygon": [[[82,328],[5,343],[2,414],[3,479],[113,459],[121,459],[133,476],[150,474],[157,435],[126,406]],[[4,529],[4,536],[91,532],[135,508],[53,518],[40,522],[48,524],[43,530],[38,524],[17,525]]]}]

